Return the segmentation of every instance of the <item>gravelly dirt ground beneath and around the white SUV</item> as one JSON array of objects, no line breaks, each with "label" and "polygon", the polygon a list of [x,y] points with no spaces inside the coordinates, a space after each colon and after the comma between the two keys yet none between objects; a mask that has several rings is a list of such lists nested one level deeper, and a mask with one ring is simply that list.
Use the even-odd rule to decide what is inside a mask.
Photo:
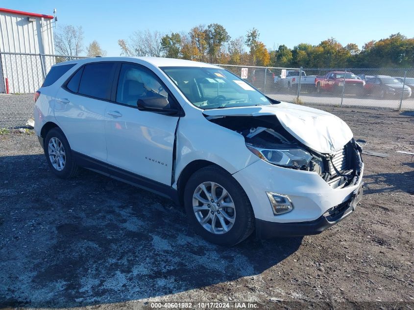
[{"label": "gravelly dirt ground beneath and around the white SUV", "polygon": [[57,179],[34,134],[1,134],[0,308],[414,309],[414,162],[396,152],[414,151],[414,113],[321,109],[344,119],[365,149],[389,154],[364,156],[357,211],[317,236],[252,236],[232,248],[196,236],[182,208],[155,194],[90,171]]}]

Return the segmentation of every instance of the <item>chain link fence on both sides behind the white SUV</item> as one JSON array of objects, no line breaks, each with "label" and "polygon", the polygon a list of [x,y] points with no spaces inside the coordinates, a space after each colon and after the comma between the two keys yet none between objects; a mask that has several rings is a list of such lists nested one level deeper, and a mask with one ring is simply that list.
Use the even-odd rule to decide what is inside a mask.
[{"label": "chain link fence on both sides behind the white SUV", "polygon": [[[0,52],[0,93],[34,93],[52,65],[79,58]],[[219,66],[281,101],[414,110],[414,69]]]}]

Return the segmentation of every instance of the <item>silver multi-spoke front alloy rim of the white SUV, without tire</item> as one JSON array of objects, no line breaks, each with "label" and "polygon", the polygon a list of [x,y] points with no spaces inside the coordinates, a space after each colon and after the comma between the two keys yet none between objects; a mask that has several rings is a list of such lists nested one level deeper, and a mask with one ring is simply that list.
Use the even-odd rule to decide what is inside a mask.
[{"label": "silver multi-spoke front alloy rim of the white SUV, without tire", "polygon": [[193,211],[200,225],[216,235],[227,233],[236,219],[233,199],[215,182],[197,186],[193,194]]}]

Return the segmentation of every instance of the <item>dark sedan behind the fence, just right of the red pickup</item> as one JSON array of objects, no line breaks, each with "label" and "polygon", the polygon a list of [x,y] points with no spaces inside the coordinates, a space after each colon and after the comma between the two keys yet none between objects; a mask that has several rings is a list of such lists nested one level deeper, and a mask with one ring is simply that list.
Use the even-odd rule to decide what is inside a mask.
[{"label": "dark sedan behind the fence, just right of the red pickup", "polygon": [[409,86],[405,85],[403,90],[403,83],[388,75],[377,75],[367,80],[365,83],[365,93],[367,95],[378,96],[381,99],[387,97],[401,97],[401,93],[403,93],[403,98],[412,95]]}]

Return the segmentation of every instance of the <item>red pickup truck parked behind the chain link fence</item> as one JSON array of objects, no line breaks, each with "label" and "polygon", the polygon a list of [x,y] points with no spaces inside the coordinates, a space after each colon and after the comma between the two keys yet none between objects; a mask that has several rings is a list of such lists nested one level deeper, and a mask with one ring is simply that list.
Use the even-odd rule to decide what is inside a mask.
[{"label": "red pickup truck parked behind the chain link fence", "polygon": [[335,95],[341,95],[343,89],[344,94],[364,95],[364,85],[365,81],[359,76],[352,72],[344,71],[331,71],[325,76],[315,79],[315,86],[319,94],[330,92]]}]

